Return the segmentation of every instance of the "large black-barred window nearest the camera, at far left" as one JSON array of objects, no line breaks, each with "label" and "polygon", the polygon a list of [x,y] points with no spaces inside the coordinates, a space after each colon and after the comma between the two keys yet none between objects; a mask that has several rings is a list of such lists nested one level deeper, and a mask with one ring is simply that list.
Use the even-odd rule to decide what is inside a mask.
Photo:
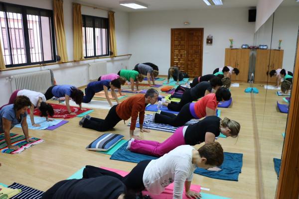
[{"label": "large black-barred window nearest the camera, at far left", "polygon": [[56,62],[52,10],[0,2],[0,29],[6,67]]}]

